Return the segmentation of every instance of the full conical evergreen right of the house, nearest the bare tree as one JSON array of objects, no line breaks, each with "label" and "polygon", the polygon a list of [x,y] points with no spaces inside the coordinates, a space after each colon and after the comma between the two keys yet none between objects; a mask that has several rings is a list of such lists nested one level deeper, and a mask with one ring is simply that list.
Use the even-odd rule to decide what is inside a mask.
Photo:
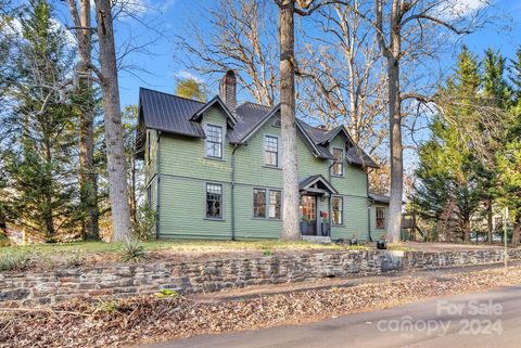
[{"label": "full conical evergreen right of the house, nearest the bare tree", "polygon": [[440,113],[431,126],[431,139],[420,149],[421,181],[416,203],[424,215],[439,221],[442,234],[470,241],[471,217],[479,207],[474,175],[475,153],[465,129],[476,127],[475,103],[481,87],[479,64],[463,47],[458,66],[439,90]]}]

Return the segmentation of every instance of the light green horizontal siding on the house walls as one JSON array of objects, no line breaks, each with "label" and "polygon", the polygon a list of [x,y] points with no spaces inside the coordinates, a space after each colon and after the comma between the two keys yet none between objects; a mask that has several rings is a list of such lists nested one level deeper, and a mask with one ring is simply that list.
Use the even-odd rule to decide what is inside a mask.
[{"label": "light green horizontal siding on the house walls", "polygon": [[[272,118],[274,119],[274,118]],[[246,146],[236,152],[236,237],[277,239],[282,221],[253,218],[253,189],[282,188],[282,170],[264,166],[264,139],[266,134],[279,138],[280,127],[268,120]],[[226,129],[226,118],[218,108],[203,115],[203,124]],[[345,165],[344,177],[330,179],[330,160],[316,158],[297,137],[298,178],[322,175],[344,197],[344,224],[332,227],[332,239],[347,239],[357,234],[367,239],[367,175],[357,166]],[[338,137],[331,146],[342,146]],[[204,140],[162,134],[158,147],[160,160],[160,237],[175,239],[231,239],[231,153],[226,144],[223,160],[204,158]],[[280,163],[281,151],[279,153]],[[205,183],[221,182],[225,189],[225,221],[204,218]],[[323,208],[329,209],[326,199]]]}]

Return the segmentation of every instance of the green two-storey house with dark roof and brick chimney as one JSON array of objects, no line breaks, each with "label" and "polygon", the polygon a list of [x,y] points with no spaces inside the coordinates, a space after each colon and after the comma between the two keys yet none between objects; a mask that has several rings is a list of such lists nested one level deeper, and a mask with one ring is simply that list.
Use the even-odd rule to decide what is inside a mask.
[{"label": "green two-storey house with dark roof and brick chimney", "polygon": [[[137,157],[158,239],[278,239],[282,230],[280,107],[237,105],[236,76],[201,103],[141,88]],[[332,240],[378,239],[389,198],[368,193],[378,165],[343,126],[297,119],[301,230]]]}]

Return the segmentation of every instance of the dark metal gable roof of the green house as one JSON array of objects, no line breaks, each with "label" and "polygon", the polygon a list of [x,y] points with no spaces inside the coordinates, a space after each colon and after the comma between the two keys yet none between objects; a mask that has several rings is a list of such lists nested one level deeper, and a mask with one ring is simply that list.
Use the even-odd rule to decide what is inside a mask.
[{"label": "dark metal gable roof of the green house", "polygon": [[[138,133],[142,133],[143,131],[140,128],[150,128],[186,137],[204,138],[205,134],[200,119],[202,114],[213,105],[221,107],[225,112],[228,124],[230,125],[226,137],[228,141],[233,144],[245,143],[252,134],[280,111],[280,104],[267,106],[245,102],[239,105],[233,114],[230,113],[218,95],[214,96],[207,103],[201,103],[194,100],[140,88],[140,121]],[[296,128],[303,136],[306,145],[318,158],[333,158],[327,144],[339,133],[342,133],[352,146],[346,152],[346,159],[351,164],[378,167],[369,155],[354,144],[343,126],[326,130],[312,127],[302,119],[296,119]]]}]

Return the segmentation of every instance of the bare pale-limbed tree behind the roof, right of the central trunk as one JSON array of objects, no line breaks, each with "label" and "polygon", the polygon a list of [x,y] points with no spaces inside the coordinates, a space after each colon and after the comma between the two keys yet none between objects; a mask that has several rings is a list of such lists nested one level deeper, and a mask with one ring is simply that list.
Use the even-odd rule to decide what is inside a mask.
[{"label": "bare pale-limbed tree behind the roof, right of the central trunk", "polygon": [[352,7],[356,11],[343,4],[317,11],[318,34],[309,37],[300,61],[300,106],[325,125],[345,125],[354,141],[373,154],[387,136],[386,74],[374,28],[367,23],[372,5],[354,0]]}]

